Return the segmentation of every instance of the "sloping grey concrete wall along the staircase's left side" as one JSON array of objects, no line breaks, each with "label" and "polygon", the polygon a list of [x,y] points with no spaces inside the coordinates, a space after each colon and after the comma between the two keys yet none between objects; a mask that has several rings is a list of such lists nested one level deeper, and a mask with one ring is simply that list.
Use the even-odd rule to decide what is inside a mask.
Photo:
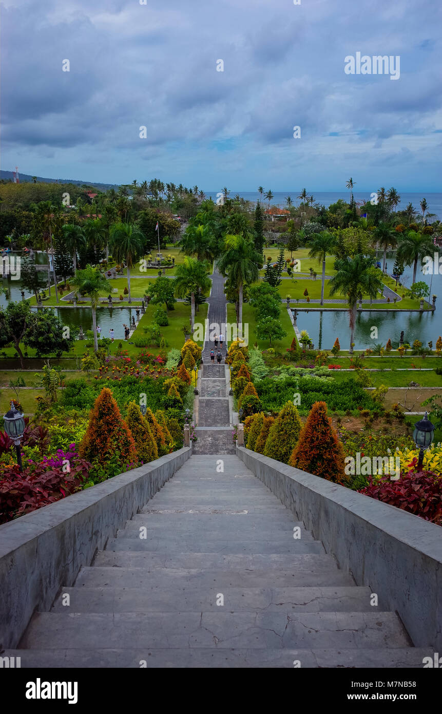
[{"label": "sloping grey concrete wall along the staircase's left side", "polygon": [[0,650],[19,645],[34,610],[49,610],[190,456],[182,448],[0,526]]}]

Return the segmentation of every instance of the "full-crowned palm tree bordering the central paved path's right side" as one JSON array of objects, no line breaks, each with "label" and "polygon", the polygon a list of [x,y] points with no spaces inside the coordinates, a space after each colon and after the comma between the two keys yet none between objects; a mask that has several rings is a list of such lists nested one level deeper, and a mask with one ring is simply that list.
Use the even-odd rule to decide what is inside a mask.
[{"label": "full-crowned palm tree bordering the central paved path's right side", "polygon": [[216,265],[223,276],[228,276],[231,286],[238,288],[237,324],[243,321],[243,286],[258,280],[258,265],[262,265],[262,260],[261,254],[248,238],[231,234],[224,238],[224,252]]}]

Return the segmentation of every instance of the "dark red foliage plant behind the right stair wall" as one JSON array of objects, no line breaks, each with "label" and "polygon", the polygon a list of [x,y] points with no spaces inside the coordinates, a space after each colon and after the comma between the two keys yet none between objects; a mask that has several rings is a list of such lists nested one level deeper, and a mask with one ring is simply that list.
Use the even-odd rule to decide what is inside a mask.
[{"label": "dark red foliage plant behind the right stair wall", "polygon": [[[416,461],[416,459],[414,460]],[[413,463],[413,467],[416,466]],[[372,478],[368,476],[368,486],[359,493],[389,503],[414,516],[442,526],[442,478],[431,471],[416,473],[414,468],[408,473],[401,473],[397,481],[389,476]]]}]

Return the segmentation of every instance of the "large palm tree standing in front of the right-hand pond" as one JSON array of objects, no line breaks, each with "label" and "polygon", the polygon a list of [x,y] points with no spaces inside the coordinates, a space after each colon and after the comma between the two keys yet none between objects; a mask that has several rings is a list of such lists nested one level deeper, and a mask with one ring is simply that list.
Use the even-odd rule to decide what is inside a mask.
[{"label": "large palm tree standing in front of the right-hand pond", "polygon": [[341,293],[348,301],[350,325],[350,354],[353,354],[353,339],[356,326],[356,310],[361,294],[376,298],[383,291],[383,283],[378,278],[373,258],[357,254],[354,258],[336,258],[336,275],[330,281],[330,295]]}]

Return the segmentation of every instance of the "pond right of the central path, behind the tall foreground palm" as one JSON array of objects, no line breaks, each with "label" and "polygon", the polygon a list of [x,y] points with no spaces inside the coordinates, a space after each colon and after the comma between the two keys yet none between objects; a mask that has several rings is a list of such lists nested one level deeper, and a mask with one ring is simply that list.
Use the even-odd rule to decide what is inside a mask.
[{"label": "pond right of the central path, behind the tall foreground palm", "polygon": [[[336,337],[342,349],[348,349],[350,328],[348,327],[348,312],[345,311],[298,311],[297,324],[299,330],[306,330],[314,346],[319,349],[331,349]],[[371,328],[378,328],[378,337],[371,338]],[[423,343],[433,341],[433,349],[438,336],[442,333],[441,316],[438,310],[434,312],[393,312],[391,310],[358,312],[356,316],[355,349],[361,350],[373,347],[377,343],[386,344],[391,339],[393,347],[397,347],[401,331],[404,341],[410,344],[414,340]]]}]

